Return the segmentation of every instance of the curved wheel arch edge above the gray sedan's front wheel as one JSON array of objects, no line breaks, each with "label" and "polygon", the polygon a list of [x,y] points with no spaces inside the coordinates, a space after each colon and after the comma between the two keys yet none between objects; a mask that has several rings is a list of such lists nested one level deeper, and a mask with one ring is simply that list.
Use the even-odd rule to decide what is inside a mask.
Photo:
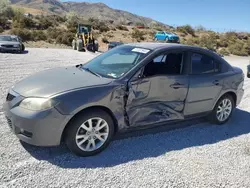
[{"label": "curved wheel arch edge above the gray sedan's front wheel", "polygon": [[113,122],[114,122],[114,133],[116,133],[118,131],[118,121],[115,117],[115,115],[113,114],[113,112],[105,107],[105,106],[91,106],[91,107],[87,107],[87,108],[84,108],[82,110],[80,110],[79,112],[77,112],[69,121],[68,123],[66,124],[66,126],[64,127],[64,130],[62,132],[62,135],[61,135],[61,142],[64,140],[65,138],[65,133],[66,133],[66,129],[67,127],[70,125],[70,122],[73,121],[77,116],[80,116],[82,113],[86,113],[87,111],[92,111],[92,110],[95,110],[95,109],[98,109],[98,110],[103,110],[105,111],[106,113],[108,113],[110,115],[110,117],[112,118]]}]

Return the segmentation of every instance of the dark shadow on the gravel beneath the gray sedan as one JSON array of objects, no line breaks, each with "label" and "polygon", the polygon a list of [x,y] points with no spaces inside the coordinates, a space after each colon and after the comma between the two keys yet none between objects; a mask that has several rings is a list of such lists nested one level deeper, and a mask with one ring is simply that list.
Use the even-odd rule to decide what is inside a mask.
[{"label": "dark shadow on the gravel beneath the gray sedan", "polygon": [[[46,160],[62,168],[99,168],[112,167],[145,158],[158,157],[168,152],[185,148],[216,144],[250,133],[250,113],[236,109],[232,118],[225,125],[213,125],[201,122],[184,128],[153,134],[127,137],[113,141],[102,153],[91,157],[77,157],[65,145],[40,148],[22,143],[24,148],[36,159]],[[183,125],[184,126],[184,125]],[[163,131],[163,129],[160,129]],[[143,131],[142,131],[143,133]]]}]

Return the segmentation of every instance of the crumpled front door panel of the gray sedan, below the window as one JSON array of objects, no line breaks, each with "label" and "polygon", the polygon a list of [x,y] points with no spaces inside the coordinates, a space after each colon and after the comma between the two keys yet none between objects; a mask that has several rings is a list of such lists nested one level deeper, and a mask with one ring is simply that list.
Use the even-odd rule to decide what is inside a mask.
[{"label": "crumpled front door panel of the gray sedan, below the window", "polygon": [[160,75],[128,83],[126,113],[130,126],[184,119],[187,75]]}]

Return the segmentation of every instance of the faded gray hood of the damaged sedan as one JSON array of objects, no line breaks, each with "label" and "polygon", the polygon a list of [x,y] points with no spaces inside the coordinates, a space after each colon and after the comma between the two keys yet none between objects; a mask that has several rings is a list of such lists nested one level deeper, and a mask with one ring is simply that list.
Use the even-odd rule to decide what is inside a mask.
[{"label": "faded gray hood of the damaged sedan", "polygon": [[29,76],[12,89],[24,97],[50,97],[69,90],[109,84],[112,79],[98,77],[81,68],[53,68]]}]

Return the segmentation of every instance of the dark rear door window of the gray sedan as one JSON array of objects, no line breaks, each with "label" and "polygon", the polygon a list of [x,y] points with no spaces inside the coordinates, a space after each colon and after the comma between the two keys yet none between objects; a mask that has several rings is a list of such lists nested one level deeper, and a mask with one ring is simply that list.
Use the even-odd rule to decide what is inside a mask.
[{"label": "dark rear door window of the gray sedan", "polygon": [[191,57],[192,74],[211,74],[219,72],[219,64],[213,58],[193,53]]}]

